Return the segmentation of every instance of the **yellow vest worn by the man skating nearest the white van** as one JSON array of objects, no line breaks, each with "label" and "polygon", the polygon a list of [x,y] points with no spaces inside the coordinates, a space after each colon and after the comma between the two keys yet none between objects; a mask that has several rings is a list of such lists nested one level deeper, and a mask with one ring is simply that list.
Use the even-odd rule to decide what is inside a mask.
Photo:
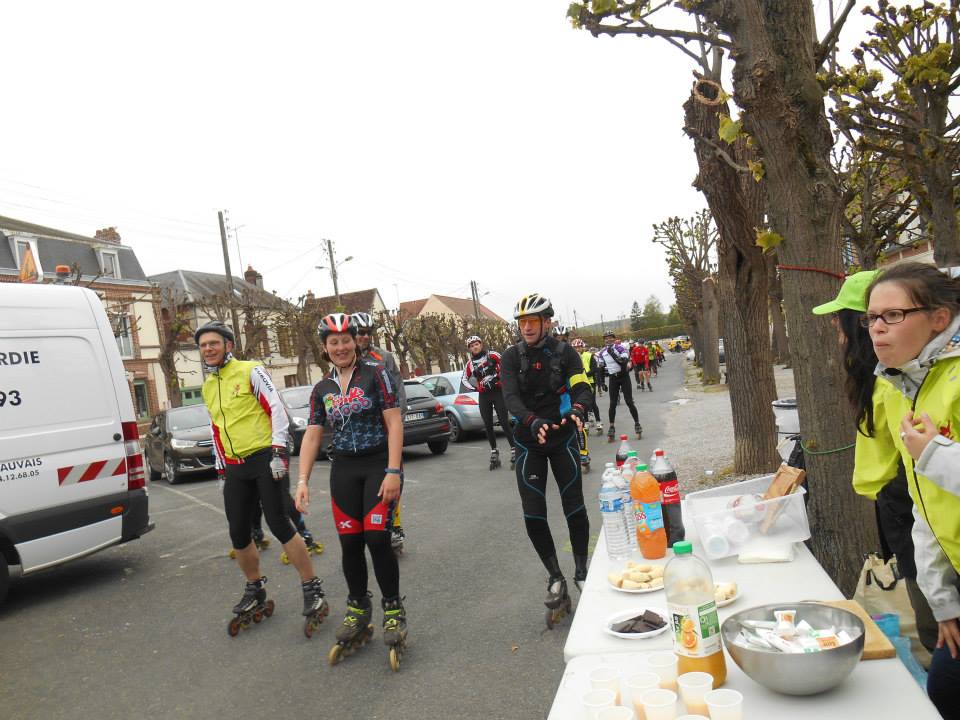
[{"label": "yellow vest worn by the man skating nearest the white van", "polygon": [[251,360],[230,360],[203,381],[203,402],[210,412],[213,442],[228,463],[269,448],[273,442],[270,416],[261,404],[264,389],[254,387],[252,380],[253,370],[259,365]]}]

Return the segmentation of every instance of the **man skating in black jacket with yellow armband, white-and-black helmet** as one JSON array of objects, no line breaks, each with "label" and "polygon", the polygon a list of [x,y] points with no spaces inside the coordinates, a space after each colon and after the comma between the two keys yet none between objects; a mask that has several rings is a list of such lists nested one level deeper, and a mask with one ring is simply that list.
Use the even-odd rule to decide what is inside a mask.
[{"label": "man skating in black jacket with yellow armband, white-and-black helmet", "polygon": [[577,459],[577,431],[586,420],[590,385],[577,351],[550,337],[553,306],[538,293],[514,308],[522,339],[507,348],[501,362],[503,396],[517,419],[517,488],[524,524],[549,574],[547,627],[570,610],[567,582],[547,524],[547,464],[553,470],[573,548],[574,581],[587,576],[590,525],[583,501],[583,475]]}]

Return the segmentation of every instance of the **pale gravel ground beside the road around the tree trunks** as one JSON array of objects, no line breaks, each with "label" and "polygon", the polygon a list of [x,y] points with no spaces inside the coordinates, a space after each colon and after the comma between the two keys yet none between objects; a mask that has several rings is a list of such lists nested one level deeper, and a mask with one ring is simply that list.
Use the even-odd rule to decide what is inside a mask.
[{"label": "pale gravel ground beside the road around the tree trunks", "polygon": [[[727,385],[704,386],[698,368],[687,360],[682,362],[686,381],[670,401],[663,441],[681,492],[686,495],[755,477],[732,474],[733,421]],[[793,397],[793,370],[778,365],[774,376],[777,397]]]}]

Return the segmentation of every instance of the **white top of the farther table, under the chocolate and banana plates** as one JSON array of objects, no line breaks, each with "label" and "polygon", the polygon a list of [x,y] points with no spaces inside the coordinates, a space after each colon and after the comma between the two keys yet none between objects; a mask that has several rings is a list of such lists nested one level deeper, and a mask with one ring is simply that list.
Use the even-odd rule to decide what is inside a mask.
[{"label": "white top of the farther table, under the chocolate and banana plates", "polygon": [[[693,542],[694,554],[705,557],[697,547],[697,537],[692,528],[687,529],[687,539]],[[783,603],[784,607],[787,607],[791,602],[801,600],[842,600],[843,594],[807,547],[803,543],[796,543],[795,550],[796,559],[789,563],[743,565],[737,561],[736,556],[708,561],[714,582],[733,581],[740,590],[740,597],[736,602],[719,609],[720,622],[733,613],[757,605]],[[640,552],[636,551],[631,559],[636,562],[666,564],[671,557],[673,553],[668,550],[667,557],[662,560],[644,560]],[[648,640],[624,640],[604,632],[604,621],[614,613],[648,606],[666,608],[667,601],[663,590],[629,594],[611,587],[607,582],[607,574],[611,570],[619,570],[625,562],[610,561],[601,530],[590,563],[590,572],[583,586],[583,594],[579,598],[570,634],[563,648],[566,662],[580,655],[646,652],[669,650],[673,647],[670,633],[662,633]]]}]

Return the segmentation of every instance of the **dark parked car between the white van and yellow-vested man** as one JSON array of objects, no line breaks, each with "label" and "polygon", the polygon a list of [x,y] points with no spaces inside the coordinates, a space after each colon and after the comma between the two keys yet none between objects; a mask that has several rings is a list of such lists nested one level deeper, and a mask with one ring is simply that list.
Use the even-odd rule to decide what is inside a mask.
[{"label": "dark parked car between the white van and yellow-vested man", "polygon": [[163,475],[171,485],[214,469],[210,413],[203,405],[156,414],[143,440],[143,460],[151,480]]}]

